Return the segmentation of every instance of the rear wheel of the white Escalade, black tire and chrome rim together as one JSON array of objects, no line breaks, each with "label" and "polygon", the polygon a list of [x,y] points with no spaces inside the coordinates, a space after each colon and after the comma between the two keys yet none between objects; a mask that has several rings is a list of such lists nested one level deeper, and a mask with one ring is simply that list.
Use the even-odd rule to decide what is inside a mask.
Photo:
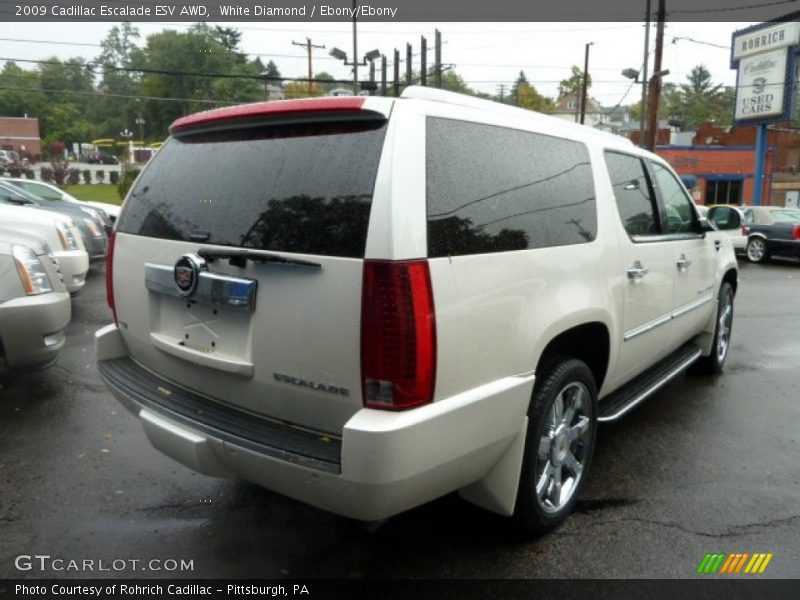
[{"label": "rear wheel of the white Escalade, black tire and chrome rim together", "polygon": [[[597,437],[597,386],[589,367],[574,358],[558,357],[548,361],[537,375],[512,517],[515,534],[524,537],[550,531],[572,512],[589,474]],[[574,409],[572,417],[567,413],[567,403]],[[578,437],[570,439],[577,433]],[[556,473],[561,481],[558,488]],[[554,499],[558,499],[556,503]]]}]

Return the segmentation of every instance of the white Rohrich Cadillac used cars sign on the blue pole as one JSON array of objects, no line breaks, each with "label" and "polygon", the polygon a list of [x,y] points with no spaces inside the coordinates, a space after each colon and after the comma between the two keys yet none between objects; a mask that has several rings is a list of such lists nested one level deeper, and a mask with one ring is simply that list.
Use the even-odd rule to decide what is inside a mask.
[{"label": "white Rohrich Cadillac used cars sign on the blue pole", "polygon": [[792,76],[800,23],[764,23],[733,34],[731,67],[736,80],[737,123],[757,124],[790,117]]}]

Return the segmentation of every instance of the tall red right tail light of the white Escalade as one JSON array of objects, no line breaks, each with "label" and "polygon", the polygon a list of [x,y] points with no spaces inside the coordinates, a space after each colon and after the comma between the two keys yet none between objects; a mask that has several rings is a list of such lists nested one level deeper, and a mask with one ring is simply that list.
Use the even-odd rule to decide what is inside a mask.
[{"label": "tall red right tail light of the white Escalade", "polygon": [[361,374],[369,408],[433,401],[436,319],[427,260],[364,261]]}]

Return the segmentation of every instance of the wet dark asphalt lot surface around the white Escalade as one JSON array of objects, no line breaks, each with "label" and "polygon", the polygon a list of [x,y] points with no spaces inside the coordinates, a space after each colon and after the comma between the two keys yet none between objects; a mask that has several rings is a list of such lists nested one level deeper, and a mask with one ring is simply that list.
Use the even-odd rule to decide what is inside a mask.
[{"label": "wet dark asphalt lot surface around the white Escalade", "polygon": [[[707,552],[771,552],[761,577],[800,575],[798,262],[741,264],[726,373],[601,427],[576,514],[529,542],[456,496],[370,528],[162,456],[95,368],[102,269],[58,364],[0,389],[0,577],[690,578]],[[34,554],[194,569],[15,568]]]}]

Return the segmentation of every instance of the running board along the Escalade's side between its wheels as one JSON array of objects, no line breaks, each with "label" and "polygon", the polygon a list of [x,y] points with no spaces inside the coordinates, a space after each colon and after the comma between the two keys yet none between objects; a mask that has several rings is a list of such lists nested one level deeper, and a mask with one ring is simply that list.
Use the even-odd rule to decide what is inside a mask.
[{"label": "running board along the Escalade's side between its wheels", "polygon": [[694,344],[681,346],[655,366],[601,400],[600,416],[597,420],[601,423],[616,421],[683,373],[700,358],[701,354],[700,348]]}]

